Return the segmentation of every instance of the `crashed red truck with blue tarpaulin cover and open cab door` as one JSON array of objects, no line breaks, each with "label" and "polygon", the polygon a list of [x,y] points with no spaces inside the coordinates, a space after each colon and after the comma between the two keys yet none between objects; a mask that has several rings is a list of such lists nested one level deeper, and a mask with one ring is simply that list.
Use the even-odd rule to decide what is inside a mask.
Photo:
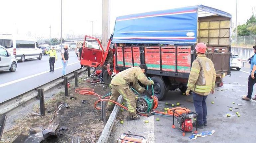
[{"label": "crashed red truck with blue tarpaulin cover and open cab door", "polygon": [[146,75],[154,81],[154,94],[161,100],[169,90],[185,93],[195,45],[205,43],[220,87],[223,77],[231,73],[231,18],[203,5],[120,16],[105,51],[97,38],[85,35],[84,41],[94,39],[100,49],[83,47],[80,64],[102,66],[107,84],[118,72],[146,64]]}]

